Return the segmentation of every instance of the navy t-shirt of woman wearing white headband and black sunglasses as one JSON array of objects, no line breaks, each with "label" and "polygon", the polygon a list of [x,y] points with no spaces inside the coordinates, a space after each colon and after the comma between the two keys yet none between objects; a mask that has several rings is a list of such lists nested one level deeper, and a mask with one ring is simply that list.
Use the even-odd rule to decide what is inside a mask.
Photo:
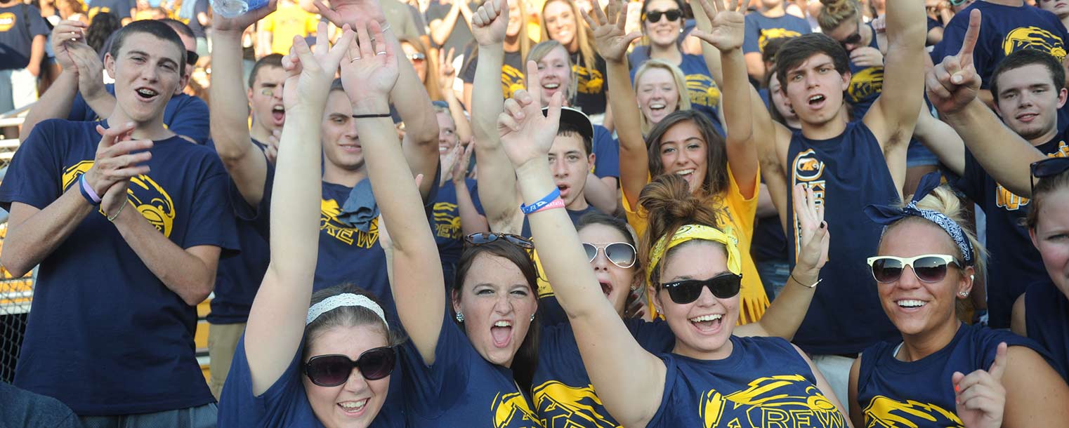
[{"label": "navy t-shirt of woman wearing white headband and black sunglasses", "polygon": [[[285,372],[263,394],[252,394],[252,371],[245,354],[245,335],[237,340],[234,362],[219,397],[219,428],[308,427],[323,428],[308,403],[300,369],[303,348],[290,361]],[[393,390],[390,389],[390,393]],[[389,401],[387,401],[389,402]],[[384,406],[370,428],[404,427],[399,409]]]}]

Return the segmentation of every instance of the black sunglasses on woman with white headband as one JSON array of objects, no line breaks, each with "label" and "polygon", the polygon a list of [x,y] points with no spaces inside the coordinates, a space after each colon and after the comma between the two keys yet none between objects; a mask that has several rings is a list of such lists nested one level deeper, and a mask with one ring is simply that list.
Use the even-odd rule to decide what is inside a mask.
[{"label": "black sunglasses on woman with white headband", "polygon": [[382,379],[393,372],[397,352],[391,347],[371,348],[356,361],[342,354],[315,355],[305,363],[305,376],[320,386],[338,386],[348,380],[353,367],[367,380]]}]

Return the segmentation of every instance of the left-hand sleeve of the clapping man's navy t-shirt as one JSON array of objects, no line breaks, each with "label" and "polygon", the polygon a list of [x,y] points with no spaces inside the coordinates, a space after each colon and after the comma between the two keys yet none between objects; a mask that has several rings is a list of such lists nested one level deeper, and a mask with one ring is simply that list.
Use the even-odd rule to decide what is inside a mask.
[{"label": "left-hand sleeve of the clapping man's navy t-shirt", "polygon": [[52,121],[37,124],[15,152],[6,177],[0,184],[0,207],[3,209],[10,211],[13,202],[45,209],[62,193],[62,150],[52,146],[58,141],[52,125]]}]

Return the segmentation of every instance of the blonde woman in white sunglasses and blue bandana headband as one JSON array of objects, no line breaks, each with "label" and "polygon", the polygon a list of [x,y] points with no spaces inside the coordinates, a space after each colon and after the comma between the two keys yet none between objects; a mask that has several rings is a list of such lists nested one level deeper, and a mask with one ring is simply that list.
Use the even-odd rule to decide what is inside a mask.
[{"label": "blonde woman in white sunglasses and blue bandana headband", "polygon": [[[850,370],[855,426],[1056,426],[1069,421],[1069,386],[1035,342],[958,319],[985,250],[961,226],[961,201],[940,174],[908,205],[869,205],[885,225],[869,257],[880,303],[902,334],[879,343]],[[1008,347],[1007,347],[1008,345]]]}]

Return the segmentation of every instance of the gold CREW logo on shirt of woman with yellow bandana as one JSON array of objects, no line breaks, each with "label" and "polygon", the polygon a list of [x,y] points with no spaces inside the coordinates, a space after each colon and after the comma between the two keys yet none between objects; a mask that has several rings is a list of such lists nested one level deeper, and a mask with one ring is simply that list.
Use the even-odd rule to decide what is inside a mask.
[{"label": "gold CREW logo on shirt of woman with yellow bandana", "polygon": [[[805,395],[795,396],[804,385]],[[702,394],[703,427],[846,427],[842,413],[802,375],[758,378],[743,391]]]}]

